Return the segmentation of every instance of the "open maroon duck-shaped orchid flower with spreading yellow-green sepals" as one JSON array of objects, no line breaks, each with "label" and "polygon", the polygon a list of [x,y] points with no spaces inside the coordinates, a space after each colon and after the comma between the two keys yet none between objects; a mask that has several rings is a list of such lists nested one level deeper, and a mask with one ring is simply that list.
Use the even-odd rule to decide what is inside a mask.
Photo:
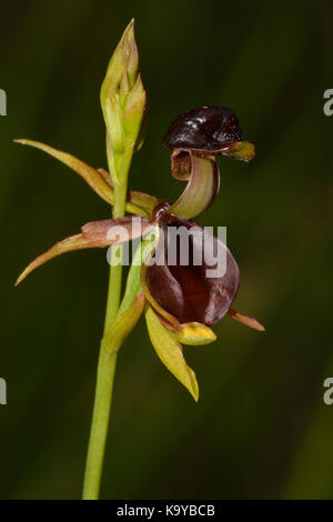
[{"label": "open maroon duck-shaped orchid flower with spreading yellow-green sepals", "polygon": [[[81,175],[104,201],[113,203],[113,184],[105,170],[94,169],[71,154],[43,143],[17,141],[41,149],[62,161]],[[137,254],[137,258],[140,255],[139,265],[138,259],[132,264],[120,314],[131,310],[131,307],[132,310],[139,307],[135,315],[138,320],[147,301],[148,331],[158,355],[198,400],[196,378],[185,363],[182,344],[213,342],[216,337],[210,327],[226,313],[248,327],[264,330],[255,319],[232,309],[239,290],[240,271],[230,250],[219,238],[212,238],[209,248],[224,257],[225,270],[220,277],[206,275],[208,270],[213,267],[209,267],[203,259],[203,245],[206,247],[203,241],[204,229],[192,221],[192,218],[213,203],[219,193],[216,154],[249,161],[254,157],[254,145],[241,140],[234,112],[219,107],[198,108],[176,118],[163,141],[172,149],[172,175],[188,181],[184,191],[173,204],[150,194],[129,191],[125,210],[134,215],[84,224],[80,233],[60,241],[32,261],[17,283],[32,270],[62,253],[104,248],[154,232],[154,242],[151,239],[142,242],[142,245],[150,248],[149,254],[144,254],[141,245]],[[138,221],[140,227],[134,227]],[[171,228],[175,231],[185,229],[191,235],[186,265],[182,265],[179,253],[175,262],[172,265],[169,263],[168,231]],[[159,232],[163,232],[162,238]],[[161,251],[165,262],[150,264],[157,252]],[[198,253],[203,259],[200,265],[193,262]]]}]

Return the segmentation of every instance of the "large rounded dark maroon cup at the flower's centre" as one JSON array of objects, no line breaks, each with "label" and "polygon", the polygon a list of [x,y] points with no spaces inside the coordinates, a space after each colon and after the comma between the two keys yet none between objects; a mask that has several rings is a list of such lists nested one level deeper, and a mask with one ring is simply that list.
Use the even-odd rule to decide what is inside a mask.
[{"label": "large rounded dark maroon cup at the flower's centre", "polygon": [[[180,323],[199,322],[206,325],[215,323],[229,311],[238,293],[240,273],[234,258],[225,244],[215,237],[210,245],[202,242],[204,229],[194,221],[179,219],[170,214],[167,209],[163,211],[161,207],[155,215],[164,232],[163,244],[160,244],[160,248],[164,249],[165,262],[148,268],[147,283],[152,297]],[[168,232],[171,227],[176,230],[184,227],[188,231],[192,231],[189,234],[188,265],[180,262],[179,239],[176,261],[174,264],[169,262],[170,235]],[[226,270],[222,277],[208,277],[208,270],[214,269],[214,265],[208,264],[204,253],[202,253],[202,263],[195,264],[195,251],[203,249],[203,245],[214,251],[214,255],[216,255],[218,247],[223,249]]]}]

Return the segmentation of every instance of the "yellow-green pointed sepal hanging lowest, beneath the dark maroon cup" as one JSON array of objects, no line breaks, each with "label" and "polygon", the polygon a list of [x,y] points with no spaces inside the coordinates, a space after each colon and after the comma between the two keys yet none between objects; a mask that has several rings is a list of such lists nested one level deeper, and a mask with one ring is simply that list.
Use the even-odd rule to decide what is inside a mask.
[{"label": "yellow-green pointed sepal hanging lowest, beneath the dark maroon cup", "polygon": [[189,390],[195,401],[199,385],[193,370],[186,364],[182,345],[161,324],[151,307],[147,307],[145,320],[152,345],[168,370]]}]

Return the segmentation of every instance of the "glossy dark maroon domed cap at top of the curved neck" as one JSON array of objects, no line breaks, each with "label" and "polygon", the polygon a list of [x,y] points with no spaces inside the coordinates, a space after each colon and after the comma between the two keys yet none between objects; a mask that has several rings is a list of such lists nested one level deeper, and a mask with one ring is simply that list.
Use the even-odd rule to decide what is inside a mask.
[{"label": "glossy dark maroon domed cap at top of the curved neck", "polygon": [[239,119],[231,109],[199,107],[171,123],[163,143],[170,149],[219,153],[241,137]]}]

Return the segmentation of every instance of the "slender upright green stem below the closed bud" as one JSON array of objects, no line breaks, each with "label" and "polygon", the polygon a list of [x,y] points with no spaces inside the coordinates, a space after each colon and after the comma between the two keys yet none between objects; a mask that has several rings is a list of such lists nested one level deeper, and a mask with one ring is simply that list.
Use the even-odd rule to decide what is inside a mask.
[{"label": "slender upright green stem below the closed bud", "polygon": [[[122,161],[121,183],[114,184],[113,218],[122,218],[124,215],[128,191],[128,173],[132,160],[132,149],[128,149],[127,151],[124,151]],[[122,249],[120,247],[115,248],[118,249],[118,254],[121,259]],[[100,348],[95,396],[85,464],[82,494],[83,500],[97,500],[99,498],[101,474],[105,452],[105,442],[108,436],[109,419],[111,411],[117,353],[120,349],[119,345],[115,345],[110,341],[108,343],[105,342],[105,333],[110,331],[110,328],[112,328],[112,321],[114,321],[119,311],[121,297],[121,281],[122,263],[119,262],[119,264],[114,267],[112,267],[111,264],[104,333]],[[108,337],[108,339],[110,339],[110,335]]]}]

